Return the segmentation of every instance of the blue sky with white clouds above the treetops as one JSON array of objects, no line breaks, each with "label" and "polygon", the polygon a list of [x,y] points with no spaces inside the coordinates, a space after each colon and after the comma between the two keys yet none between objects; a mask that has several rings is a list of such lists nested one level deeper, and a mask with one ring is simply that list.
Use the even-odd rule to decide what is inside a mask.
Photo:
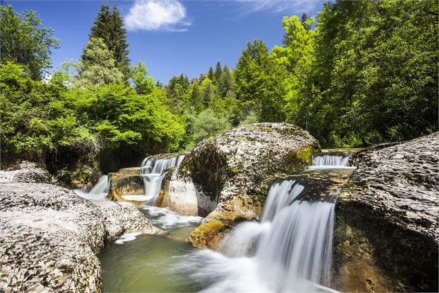
[{"label": "blue sky with white clouds above the treetops", "polygon": [[281,45],[282,17],[316,15],[320,0],[136,0],[136,1],[8,1],[15,10],[35,10],[55,30],[61,48],[53,67],[77,60],[102,3],[116,3],[129,30],[129,57],[142,60],[160,82],[185,73],[206,72],[217,61],[231,68],[247,41],[263,39]]}]

